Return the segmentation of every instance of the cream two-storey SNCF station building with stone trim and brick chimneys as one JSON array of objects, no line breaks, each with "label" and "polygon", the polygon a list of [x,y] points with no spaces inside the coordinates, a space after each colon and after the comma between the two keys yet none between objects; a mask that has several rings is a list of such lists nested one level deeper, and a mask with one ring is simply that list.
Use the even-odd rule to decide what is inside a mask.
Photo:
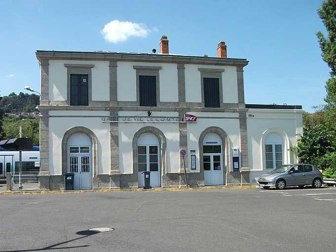
[{"label": "cream two-storey SNCF station building with stone trim and brick chimneys", "polygon": [[[160,52],[38,50],[40,189],[248,185],[297,161],[298,105],[246,104],[246,59]],[[214,48],[215,50],[216,48]],[[186,149],[183,158],[180,149]]]}]

